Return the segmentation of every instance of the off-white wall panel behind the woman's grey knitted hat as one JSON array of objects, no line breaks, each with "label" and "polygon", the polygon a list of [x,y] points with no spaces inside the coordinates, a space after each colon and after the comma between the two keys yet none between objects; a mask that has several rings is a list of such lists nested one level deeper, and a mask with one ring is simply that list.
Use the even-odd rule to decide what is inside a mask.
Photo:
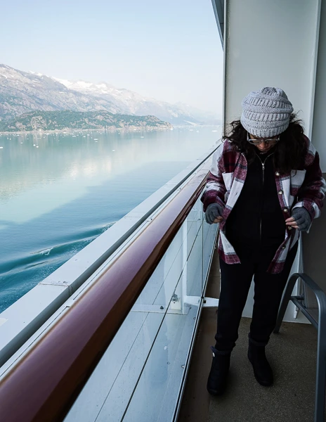
[{"label": "off-white wall panel behind the woman's grey knitted hat", "polygon": [[262,87],[285,90],[311,135],[319,0],[228,0],[225,123]]}]

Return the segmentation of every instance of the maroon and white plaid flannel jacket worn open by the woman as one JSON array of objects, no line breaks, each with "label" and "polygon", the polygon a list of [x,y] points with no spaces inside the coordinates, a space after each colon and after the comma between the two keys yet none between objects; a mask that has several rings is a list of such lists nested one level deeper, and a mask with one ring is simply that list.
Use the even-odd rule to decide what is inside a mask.
[{"label": "maroon and white plaid flannel jacket worn open by the woman", "polygon": [[[325,198],[326,184],[322,178],[318,152],[308,138],[306,142],[304,167],[301,170],[292,170],[287,174],[275,171],[278,199],[285,219],[291,217],[294,207],[305,207],[311,220],[319,217]],[[221,143],[213,155],[207,185],[200,199],[204,204],[204,212],[211,203],[219,203],[223,207],[223,221],[219,227],[219,255],[227,264],[240,263],[233,246],[226,238],[225,225],[240,196],[246,176],[247,160],[244,154],[236,151],[228,140]],[[291,229],[288,227],[285,231],[284,241],[270,262],[268,272],[272,274],[282,271],[287,253],[299,239],[299,230]]]}]

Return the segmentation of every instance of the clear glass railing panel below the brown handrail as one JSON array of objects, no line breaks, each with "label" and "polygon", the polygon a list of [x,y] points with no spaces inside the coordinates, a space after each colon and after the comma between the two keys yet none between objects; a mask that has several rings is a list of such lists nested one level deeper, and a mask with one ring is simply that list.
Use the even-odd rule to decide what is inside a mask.
[{"label": "clear glass railing panel below the brown handrail", "polygon": [[203,257],[209,255],[210,240],[214,227],[203,231],[198,200],[65,422],[173,420],[199,315]]}]

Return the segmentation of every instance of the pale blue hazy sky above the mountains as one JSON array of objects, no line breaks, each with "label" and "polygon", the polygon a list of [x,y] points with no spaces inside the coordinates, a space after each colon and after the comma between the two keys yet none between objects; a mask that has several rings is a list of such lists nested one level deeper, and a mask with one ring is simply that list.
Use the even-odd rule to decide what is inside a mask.
[{"label": "pale blue hazy sky above the mountains", "polygon": [[5,0],[0,63],[221,114],[211,0]]}]

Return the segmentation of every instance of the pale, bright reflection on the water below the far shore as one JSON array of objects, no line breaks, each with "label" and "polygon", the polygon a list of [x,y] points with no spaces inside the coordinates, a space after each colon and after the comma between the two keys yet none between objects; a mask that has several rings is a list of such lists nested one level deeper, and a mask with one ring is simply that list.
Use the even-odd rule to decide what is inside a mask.
[{"label": "pale, bright reflection on the water below the far shore", "polygon": [[0,136],[1,219],[26,222],[147,162],[195,160],[216,140],[207,128]]}]

